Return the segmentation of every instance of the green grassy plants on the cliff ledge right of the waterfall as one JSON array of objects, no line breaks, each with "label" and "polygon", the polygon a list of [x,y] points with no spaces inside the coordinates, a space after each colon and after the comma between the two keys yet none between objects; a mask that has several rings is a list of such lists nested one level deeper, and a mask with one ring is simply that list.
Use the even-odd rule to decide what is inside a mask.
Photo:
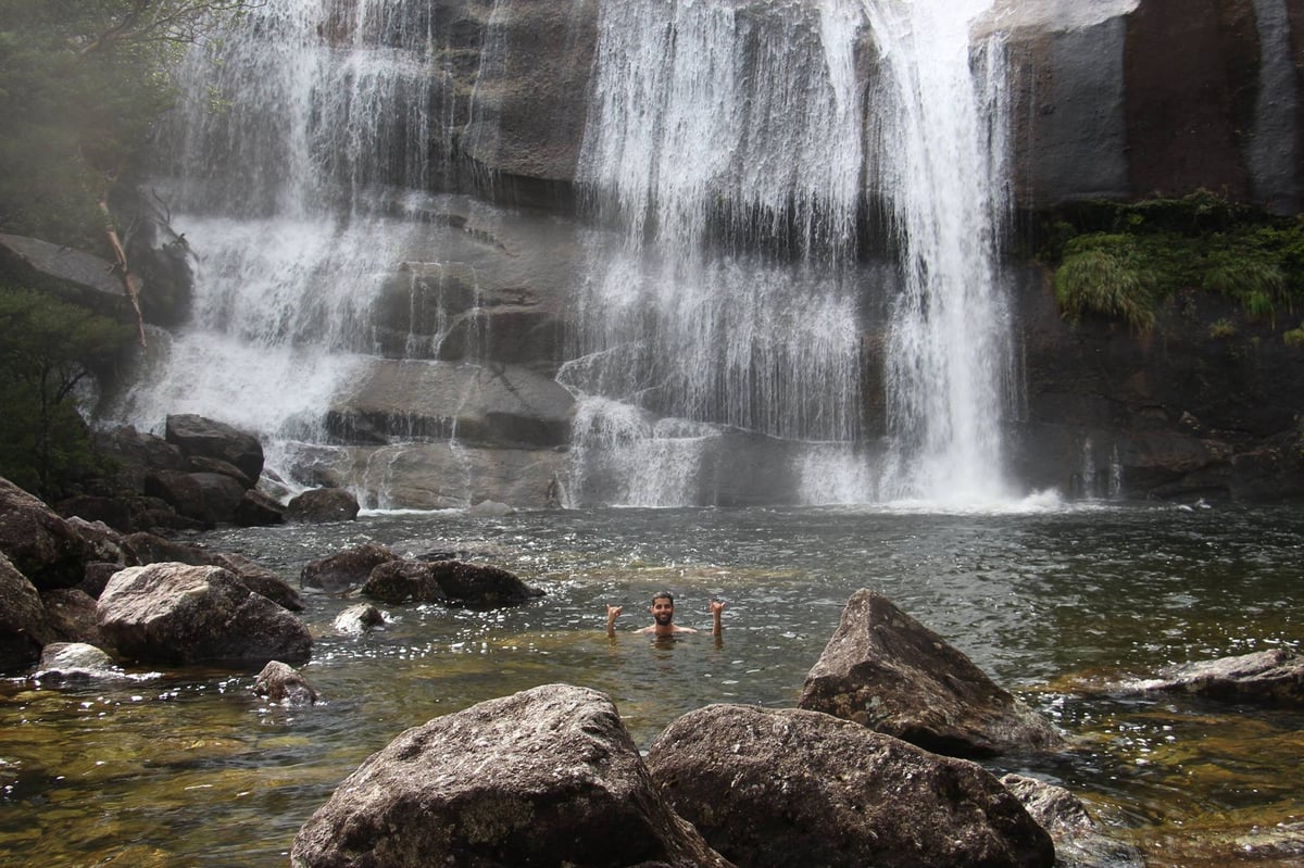
[{"label": "green grassy plants on the cliff ledge right of the waterfall", "polygon": [[1222,295],[1273,325],[1304,301],[1304,223],[1210,193],[1080,203],[1072,220],[1050,224],[1042,252],[1058,266],[1056,295],[1069,319],[1090,311],[1148,331],[1158,306],[1181,288]]}]

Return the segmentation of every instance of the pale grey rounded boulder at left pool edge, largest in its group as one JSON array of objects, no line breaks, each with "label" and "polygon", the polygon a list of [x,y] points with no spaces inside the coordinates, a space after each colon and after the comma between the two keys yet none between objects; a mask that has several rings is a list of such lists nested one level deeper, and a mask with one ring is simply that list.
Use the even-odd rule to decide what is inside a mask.
[{"label": "pale grey rounded boulder at left pool edge, largest in its group", "polygon": [[119,654],[163,663],[303,661],[308,628],[222,567],[128,567],[99,597],[99,629]]}]

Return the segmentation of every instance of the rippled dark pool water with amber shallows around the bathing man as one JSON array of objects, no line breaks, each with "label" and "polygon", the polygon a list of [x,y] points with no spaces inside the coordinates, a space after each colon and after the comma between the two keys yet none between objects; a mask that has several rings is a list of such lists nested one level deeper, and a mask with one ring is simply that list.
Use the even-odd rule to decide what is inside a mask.
[{"label": "rippled dark pool water with amber shallows around the bathing man", "polygon": [[[610,693],[643,747],[708,702],[793,706],[858,588],[1073,736],[1068,755],[992,769],[1071,787],[1150,865],[1297,865],[1304,852],[1304,716],[1111,689],[1166,663],[1299,646],[1294,510],[387,514],[201,541],[292,583],[365,541],[462,551],[548,593],[488,613],[390,607],[391,623],[363,636],[331,627],[355,601],[312,596],[303,671],[325,702],[309,709],[262,704],[244,671],[3,682],[0,864],[287,865],[299,826],[402,730],[537,684]],[[634,635],[664,588],[679,623],[703,628],[708,601],[725,600],[722,641]],[[626,607],[615,641],[609,602]]]}]

